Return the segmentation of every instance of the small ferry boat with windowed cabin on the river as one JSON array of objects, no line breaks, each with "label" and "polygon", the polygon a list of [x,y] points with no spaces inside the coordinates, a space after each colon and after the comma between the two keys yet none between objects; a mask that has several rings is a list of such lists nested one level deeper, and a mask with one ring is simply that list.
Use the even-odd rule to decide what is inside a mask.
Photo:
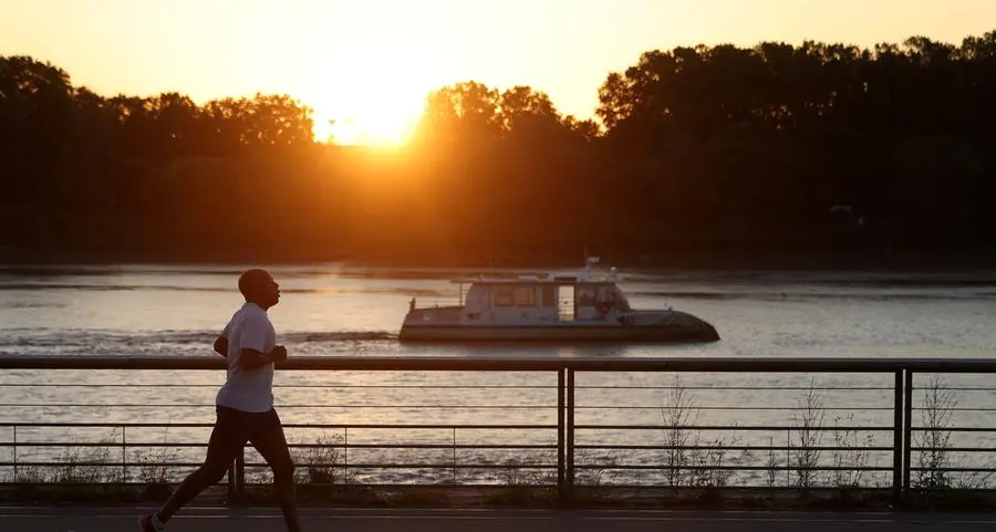
[{"label": "small ferry boat with windowed cabin on the river", "polygon": [[[673,309],[636,310],[618,272],[599,274],[590,258],[579,274],[456,279],[459,304],[408,303],[400,341],[716,342],[706,321]],[[464,286],[469,285],[465,292]]]}]

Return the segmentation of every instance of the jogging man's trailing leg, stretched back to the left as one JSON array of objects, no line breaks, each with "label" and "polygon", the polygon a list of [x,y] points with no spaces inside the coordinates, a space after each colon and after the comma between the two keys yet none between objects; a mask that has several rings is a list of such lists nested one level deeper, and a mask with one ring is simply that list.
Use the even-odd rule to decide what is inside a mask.
[{"label": "jogging man's trailing leg, stretched back to the left", "polygon": [[[180,508],[187,505],[208,487],[218,483],[248,439],[247,423],[237,418],[238,413],[218,410],[218,418],[208,440],[207,457],[197,470],[187,476],[163,508],[149,515],[149,524],[166,524]],[[154,519],[152,519],[154,518]],[[143,524],[146,528],[145,524]],[[153,528],[153,530],[156,530]]]}]

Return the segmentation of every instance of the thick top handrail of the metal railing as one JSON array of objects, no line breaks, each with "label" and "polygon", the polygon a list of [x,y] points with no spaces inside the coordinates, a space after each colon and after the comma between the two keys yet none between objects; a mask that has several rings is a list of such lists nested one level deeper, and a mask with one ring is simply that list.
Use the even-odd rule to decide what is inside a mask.
[{"label": "thick top handrail of the metal railing", "polygon": [[[0,369],[225,369],[219,356],[4,355]],[[793,358],[793,357],[442,357],[299,356],[277,365],[297,371],[373,372],[729,372],[729,373],[975,373],[996,374],[996,358]]]}]

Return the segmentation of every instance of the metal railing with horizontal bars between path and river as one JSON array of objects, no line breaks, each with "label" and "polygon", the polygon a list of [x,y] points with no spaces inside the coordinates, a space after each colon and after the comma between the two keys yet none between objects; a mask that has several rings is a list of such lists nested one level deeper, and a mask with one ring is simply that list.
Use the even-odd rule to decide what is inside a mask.
[{"label": "metal railing with horizontal bars between path and river", "polygon": [[[203,459],[220,384],[204,377],[225,364],[0,357],[0,477],[177,481]],[[566,502],[591,488],[902,500],[985,491],[996,472],[992,359],[300,357],[278,369],[299,479],[317,486],[535,486]],[[181,420],[162,421],[173,416]],[[183,439],[156,441],[154,430]],[[255,451],[239,457],[229,498],[266,471]]]}]

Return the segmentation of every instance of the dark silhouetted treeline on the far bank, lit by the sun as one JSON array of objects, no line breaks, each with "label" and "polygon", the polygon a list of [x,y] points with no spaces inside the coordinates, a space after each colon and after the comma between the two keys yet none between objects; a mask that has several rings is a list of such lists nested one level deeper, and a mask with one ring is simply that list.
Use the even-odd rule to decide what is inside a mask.
[{"label": "dark silhouetted treeline on the far bank, lit by the sun", "polygon": [[972,250],[996,227],[994,95],[996,32],[702,45],[610,73],[599,123],[530,87],[440,88],[382,153],[315,143],[287,95],[108,97],[4,56],[0,246],[475,263]]}]

